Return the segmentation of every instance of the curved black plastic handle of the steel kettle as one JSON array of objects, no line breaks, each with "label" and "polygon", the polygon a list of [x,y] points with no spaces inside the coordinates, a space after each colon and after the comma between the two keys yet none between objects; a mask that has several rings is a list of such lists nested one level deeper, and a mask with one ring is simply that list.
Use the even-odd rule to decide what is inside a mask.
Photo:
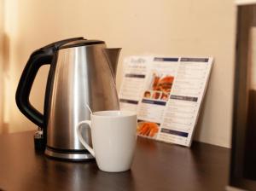
[{"label": "curved black plastic handle of the steel kettle", "polygon": [[19,107],[20,112],[40,127],[44,127],[44,114],[40,113],[32,106],[29,101],[29,96],[39,68],[45,64],[50,64],[53,58],[53,52],[49,53],[42,49],[33,52],[21,74],[15,95],[16,104]]}]

